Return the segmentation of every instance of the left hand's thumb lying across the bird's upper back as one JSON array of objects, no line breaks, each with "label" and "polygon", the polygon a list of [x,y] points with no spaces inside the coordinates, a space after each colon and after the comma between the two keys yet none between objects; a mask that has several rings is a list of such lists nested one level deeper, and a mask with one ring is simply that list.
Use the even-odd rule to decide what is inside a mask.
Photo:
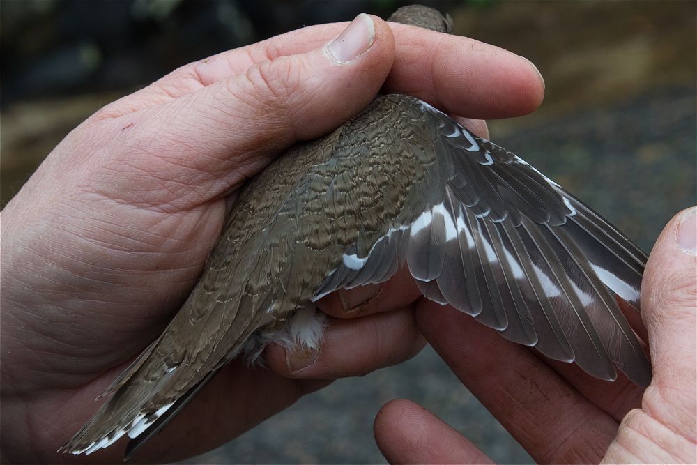
[{"label": "left hand's thumb lying across the bird's upper back", "polygon": [[[151,204],[178,209],[219,198],[284,148],[320,137],[365,108],[394,56],[389,26],[362,13],[322,47],[256,63],[244,73],[123,115],[116,124],[126,140],[117,156],[126,175],[122,183],[113,178],[109,183],[117,195],[135,189],[139,201],[148,195],[155,200]],[[109,169],[109,176],[113,173]],[[143,174],[157,179],[153,192],[143,192]]]}]

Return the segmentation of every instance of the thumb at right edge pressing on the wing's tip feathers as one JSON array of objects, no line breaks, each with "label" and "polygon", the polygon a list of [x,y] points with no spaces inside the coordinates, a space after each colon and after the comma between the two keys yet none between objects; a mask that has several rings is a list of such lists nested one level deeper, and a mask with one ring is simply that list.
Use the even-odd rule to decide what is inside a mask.
[{"label": "thumb at right edge pressing on the wing's tip feathers", "polygon": [[653,363],[644,410],[695,438],[697,208],[676,215],[650,254],[641,289]]}]

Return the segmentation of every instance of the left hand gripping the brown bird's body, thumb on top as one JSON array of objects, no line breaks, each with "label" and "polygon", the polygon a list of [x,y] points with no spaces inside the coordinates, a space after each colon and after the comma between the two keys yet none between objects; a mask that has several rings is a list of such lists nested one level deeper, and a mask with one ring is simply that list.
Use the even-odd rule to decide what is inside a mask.
[{"label": "left hand gripping the brown bird's body, thumb on top", "polygon": [[[473,119],[525,114],[542,100],[537,70],[497,47],[367,16],[354,23],[358,36],[325,47],[345,27],[224,52],[107,105],[10,201],[1,223],[3,460],[120,461],[118,446],[89,457],[55,451],[183,303],[228,199],[284,148],[344,123],[379,90]],[[313,360],[286,360],[279,347],[266,354],[270,370],[231,363],[135,459],[209,450],[329,382],[321,379],[413,356],[424,344],[408,305],[415,296],[385,292],[362,312],[337,311],[366,290],[321,303],[354,318],[331,320],[314,363],[301,369]]]}]

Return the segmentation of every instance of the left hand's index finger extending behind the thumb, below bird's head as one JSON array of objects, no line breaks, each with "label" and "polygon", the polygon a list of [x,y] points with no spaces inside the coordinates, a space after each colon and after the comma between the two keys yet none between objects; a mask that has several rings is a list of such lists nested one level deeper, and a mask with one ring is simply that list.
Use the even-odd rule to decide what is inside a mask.
[{"label": "left hand's index finger extending behind the thumb, below bird's head", "polygon": [[[347,23],[319,24],[275,36],[189,63],[146,89],[111,105],[118,116],[186,95],[247,68],[281,56],[305,54],[335,38]],[[507,118],[539,107],[544,81],[527,59],[505,49],[461,36],[447,36],[390,23],[397,59],[385,93],[408,93],[453,114]],[[134,98],[135,97],[135,98]]]}]

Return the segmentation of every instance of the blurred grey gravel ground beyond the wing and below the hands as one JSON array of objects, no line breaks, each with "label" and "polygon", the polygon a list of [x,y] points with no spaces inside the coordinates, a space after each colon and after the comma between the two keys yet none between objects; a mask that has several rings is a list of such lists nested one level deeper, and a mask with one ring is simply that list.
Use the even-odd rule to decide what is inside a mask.
[{"label": "blurred grey gravel ground beyond the wing and below the hands", "polygon": [[[491,133],[650,250],[668,219],[696,203],[696,128],[694,88],[684,86],[525,127],[506,123],[500,138],[494,123]],[[496,462],[532,462],[427,347],[396,367],[336,381],[187,463],[384,463],[372,422],[398,397],[436,413]]]}]

